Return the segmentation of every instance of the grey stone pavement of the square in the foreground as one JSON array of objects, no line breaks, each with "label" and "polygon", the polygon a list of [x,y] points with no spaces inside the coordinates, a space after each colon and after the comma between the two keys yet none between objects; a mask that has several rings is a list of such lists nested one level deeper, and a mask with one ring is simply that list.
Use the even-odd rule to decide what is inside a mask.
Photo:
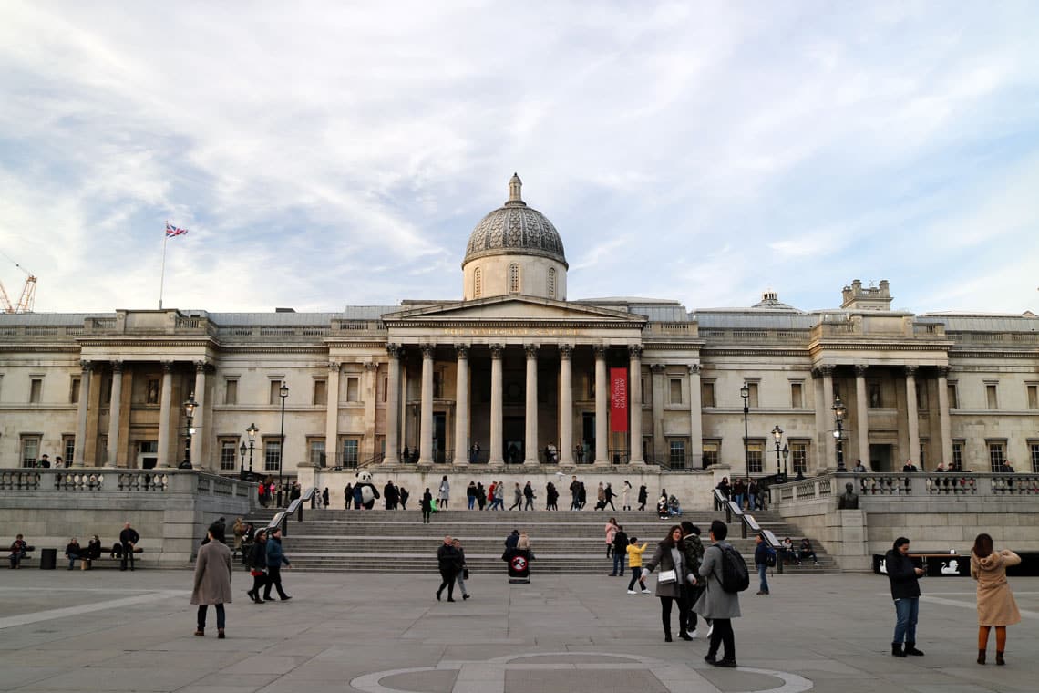
[{"label": "grey stone pavement of the square in the foreground", "polygon": [[[435,547],[431,547],[434,550]],[[604,558],[604,566],[606,559]],[[535,566],[536,569],[536,566]],[[192,635],[191,574],[0,570],[0,690],[289,693],[583,693],[1039,690],[1039,578],[1011,581],[1023,615],[1008,665],[975,663],[969,579],[925,579],[917,646],[890,657],[887,581],[785,575],[742,596],[738,669],[702,661],[703,635],[665,643],[656,597],[603,576],[474,575],[473,598],[437,603],[435,575],[284,572],[291,602],[254,605],[247,574]],[[993,634],[994,635],[994,634]],[[989,661],[994,659],[994,645]]]}]

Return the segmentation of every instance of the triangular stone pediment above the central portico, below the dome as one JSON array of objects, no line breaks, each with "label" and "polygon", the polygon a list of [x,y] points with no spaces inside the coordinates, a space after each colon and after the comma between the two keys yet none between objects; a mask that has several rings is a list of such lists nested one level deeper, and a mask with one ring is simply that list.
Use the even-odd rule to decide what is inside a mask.
[{"label": "triangular stone pediment above the central portico, below the dome", "polygon": [[382,316],[388,326],[404,327],[429,322],[497,322],[497,321],[551,321],[595,322],[639,326],[647,322],[645,316],[596,308],[587,303],[551,300],[531,296],[495,296],[475,300],[441,303],[425,308],[400,311]]}]

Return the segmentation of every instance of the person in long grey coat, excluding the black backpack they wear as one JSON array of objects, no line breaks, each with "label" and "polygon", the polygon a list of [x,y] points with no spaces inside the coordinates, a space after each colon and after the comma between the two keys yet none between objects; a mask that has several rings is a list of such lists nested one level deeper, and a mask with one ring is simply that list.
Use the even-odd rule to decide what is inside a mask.
[{"label": "person in long grey coat, excluding the black backpack they wear", "polygon": [[[722,589],[722,552],[732,548],[725,541],[728,527],[720,519],[711,523],[711,545],[703,551],[703,562],[699,575],[703,579],[704,590],[693,609],[700,616],[711,619],[711,640],[708,654],[703,658],[708,664],[718,667],[736,667],[736,636],[732,634],[732,619],[740,617],[739,592]],[[724,645],[722,658],[715,659],[719,645]]]}]

